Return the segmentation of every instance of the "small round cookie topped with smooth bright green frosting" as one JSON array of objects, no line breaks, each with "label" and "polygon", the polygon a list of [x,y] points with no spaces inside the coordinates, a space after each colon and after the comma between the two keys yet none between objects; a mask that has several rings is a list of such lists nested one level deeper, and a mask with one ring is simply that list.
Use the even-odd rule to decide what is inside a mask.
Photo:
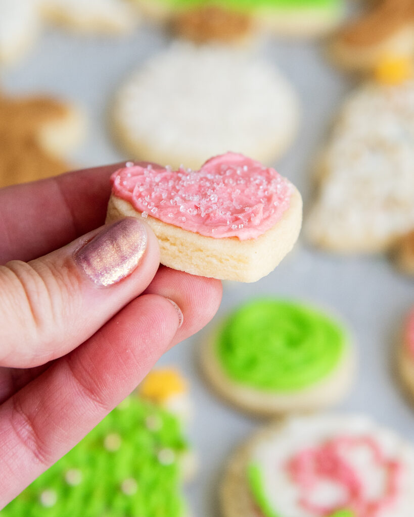
[{"label": "small round cookie topped with smooth bright green frosting", "polygon": [[340,324],[312,307],[271,298],[226,317],[204,342],[200,361],[220,396],[264,416],[334,404],[355,367]]}]

